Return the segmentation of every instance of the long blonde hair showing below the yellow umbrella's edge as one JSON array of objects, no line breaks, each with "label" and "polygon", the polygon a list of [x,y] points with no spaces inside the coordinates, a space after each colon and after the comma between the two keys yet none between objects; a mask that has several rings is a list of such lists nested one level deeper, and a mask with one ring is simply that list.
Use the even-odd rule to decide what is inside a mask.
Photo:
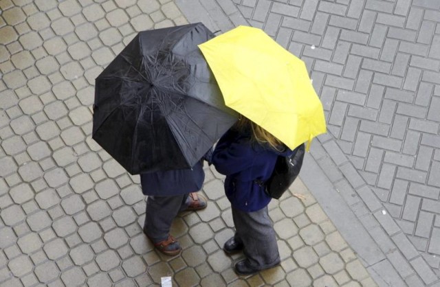
[{"label": "long blonde hair showing below the yellow umbrella's edge", "polygon": [[283,143],[274,137],[271,133],[267,132],[264,128],[261,128],[258,124],[255,124],[247,117],[240,115],[239,120],[234,125],[234,128],[241,132],[251,131],[251,141],[255,141],[261,145],[269,145],[274,150],[281,151],[284,149]]}]

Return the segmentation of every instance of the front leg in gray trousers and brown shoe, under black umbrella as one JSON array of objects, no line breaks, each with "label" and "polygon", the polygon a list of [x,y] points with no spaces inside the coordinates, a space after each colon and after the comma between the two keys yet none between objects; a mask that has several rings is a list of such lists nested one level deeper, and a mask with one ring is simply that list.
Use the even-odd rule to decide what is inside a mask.
[{"label": "front leg in gray trousers and brown shoe, under black umbrella", "polygon": [[146,200],[144,233],[166,255],[175,255],[181,250],[179,242],[170,236],[170,227],[186,197],[185,194],[148,196]]}]

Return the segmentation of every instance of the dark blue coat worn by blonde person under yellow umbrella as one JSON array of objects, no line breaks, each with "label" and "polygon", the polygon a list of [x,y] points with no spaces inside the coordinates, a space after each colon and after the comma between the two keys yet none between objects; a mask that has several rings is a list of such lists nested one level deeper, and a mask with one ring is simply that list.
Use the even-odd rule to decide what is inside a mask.
[{"label": "dark blue coat worn by blonde person under yellow umbrella", "polygon": [[274,170],[278,154],[285,152],[250,142],[249,135],[241,135],[236,130],[228,130],[217,143],[212,153],[212,164],[221,174],[225,174],[225,193],[233,207],[246,212],[257,211],[272,199],[255,180],[266,181]]}]

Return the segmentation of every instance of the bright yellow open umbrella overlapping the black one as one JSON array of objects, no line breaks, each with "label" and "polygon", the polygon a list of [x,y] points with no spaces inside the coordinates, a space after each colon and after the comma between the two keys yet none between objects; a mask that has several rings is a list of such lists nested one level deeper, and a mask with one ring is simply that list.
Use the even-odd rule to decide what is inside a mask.
[{"label": "bright yellow open umbrella overlapping the black one", "polygon": [[199,45],[226,106],[292,150],[326,133],[305,63],[262,30],[239,26]]}]

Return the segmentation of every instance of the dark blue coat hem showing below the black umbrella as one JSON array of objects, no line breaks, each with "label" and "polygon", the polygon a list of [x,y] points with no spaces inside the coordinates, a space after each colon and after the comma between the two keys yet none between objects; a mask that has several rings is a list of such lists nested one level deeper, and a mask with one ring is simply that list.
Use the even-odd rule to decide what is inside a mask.
[{"label": "dark blue coat hem showing below the black umbrella", "polygon": [[142,193],[150,196],[174,196],[197,192],[201,189],[204,180],[203,161],[198,161],[192,169],[140,174]]}]

